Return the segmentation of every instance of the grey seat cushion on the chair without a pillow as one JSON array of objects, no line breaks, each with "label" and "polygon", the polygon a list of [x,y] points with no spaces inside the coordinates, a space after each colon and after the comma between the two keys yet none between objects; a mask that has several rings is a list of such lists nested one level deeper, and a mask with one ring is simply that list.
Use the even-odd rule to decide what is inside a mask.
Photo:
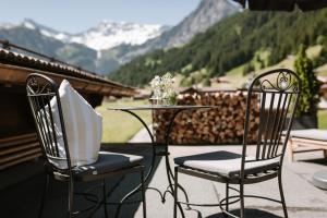
[{"label": "grey seat cushion on the chair without a pillow", "polygon": [[[190,167],[201,171],[217,173],[226,178],[235,178],[241,171],[241,155],[225,150],[192,155],[174,158],[180,166]],[[246,160],[254,160],[254,157],[246,157]],[[246,162],[245,174],[258,173],[265,170],[272,170],[279,166],[279,158]]]}]

